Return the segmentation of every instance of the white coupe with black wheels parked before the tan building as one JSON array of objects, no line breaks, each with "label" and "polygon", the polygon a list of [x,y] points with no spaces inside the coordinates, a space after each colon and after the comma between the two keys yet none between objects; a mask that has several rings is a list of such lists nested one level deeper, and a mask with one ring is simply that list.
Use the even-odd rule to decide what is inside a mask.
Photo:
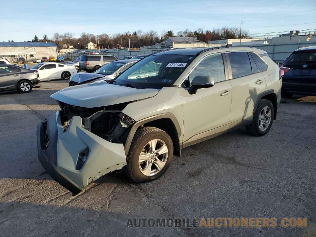
[{"label": "white coupe with black wheels parked before the tan building", "polygon": [[38,63],[31,69],[37,71],[40,80],[60,78],[62,80],[69,80],[70,77],[77,72],[75,66],[59,63]]}]

